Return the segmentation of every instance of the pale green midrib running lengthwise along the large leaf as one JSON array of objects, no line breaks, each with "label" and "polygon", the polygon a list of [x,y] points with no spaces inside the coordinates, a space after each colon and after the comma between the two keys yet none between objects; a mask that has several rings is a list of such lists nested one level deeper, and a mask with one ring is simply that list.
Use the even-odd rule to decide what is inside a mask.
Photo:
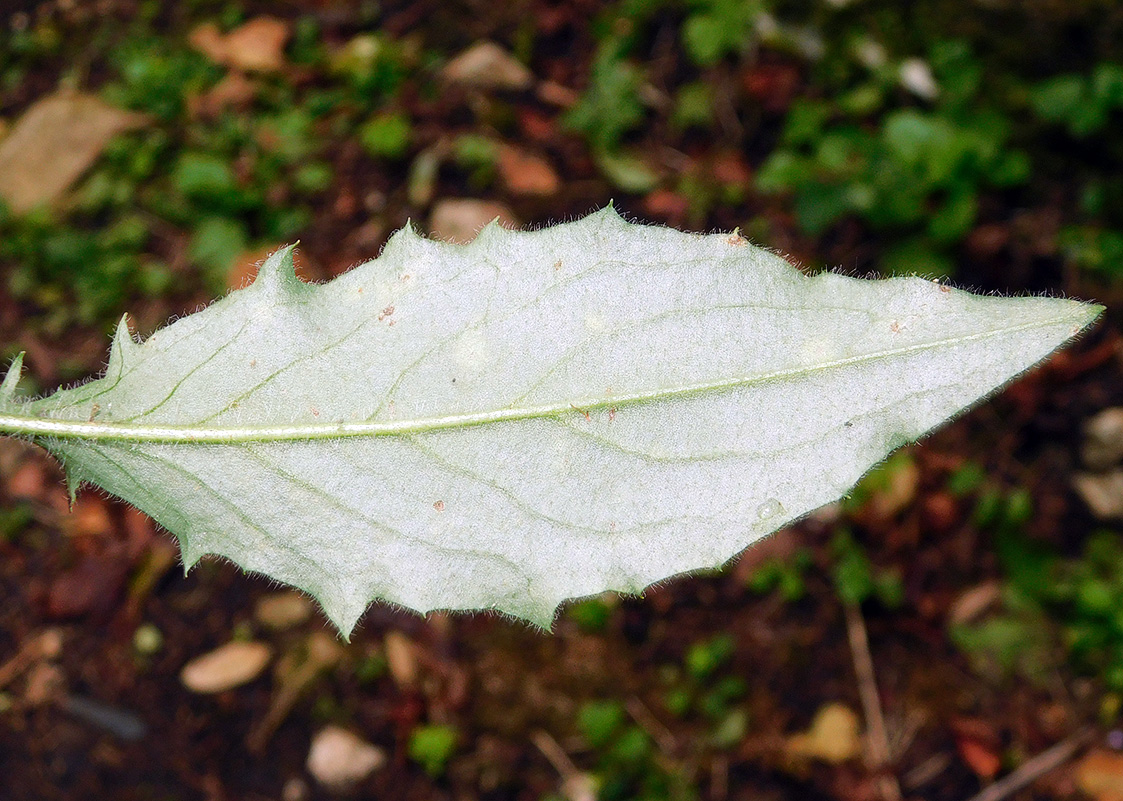
[{"label": "pale green midrib running lengthwise along the large leaf", "polygon": [[[191,426],[146,426],[112,422],[82,422],[80,420],[56,420],[49,418],[29,418],[18,415],[0,413],[0,434],[13,436],[45,437],[52,439],[83,439],[94,442],[129,442],[154,444],[212,444],[236,445],[244,443],[299,442],[313,439],[339,439],[346,437],[392,437],[409,434],[424,434],[456,428],[468,428],[493,422],[511,422],[535,418],[553,418],[565,413],[585,413],[588,411],[619,408],[632,403],[643,403],[657,400],[669,400],[705,392],[720,392],[738,386],[764,384],[784,379],[794,379],[820,371],[836,370],[864,362],[875,362],[883,358],[905,356],[934,348],[978,342],[1007,334],[1019,334],[1034,328],[1049,328],[1065,322],[1072,322],[1084,328],[1090,319],[1068,315],[1050,320],[1034,320],[1020,326],[999,328],[978,334],[969,334],[951,339],[938,339],[920,343],[907,347],[891,348],[875,353],[848,356],[847,358],[820,364],[804,365],[773,373],[750,376],[737,376],[723,381],[712,381],[700,384],[688,384],[670,389],[648,390],[631,394],[587,400],[566,400],[559,403],[546,403],[515,409],[494,409],[466,415],[447,415],[444,417],[421,418],[416,420],[390,420],[385,422],[337,422],[337,424],[302,424],[294,426],[255,426],[193,428]],[[1094,318],[1092,318],[1094,319]],[[1074,335],[1077,331],[1074,331]],[[1060,344],[1060,343],[1058,343]]]}]

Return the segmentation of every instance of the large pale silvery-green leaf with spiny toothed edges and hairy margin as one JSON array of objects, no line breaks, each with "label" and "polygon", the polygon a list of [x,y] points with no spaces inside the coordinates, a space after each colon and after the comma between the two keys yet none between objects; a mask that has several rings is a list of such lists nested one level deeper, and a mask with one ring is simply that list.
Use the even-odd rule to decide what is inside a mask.
[{"label": "large pale silvery-green leaf with spiny toothed edges and hairy margin", "polygon": [[1101,308],[807,277],[611,208],[474,243],[395,234],[301,283],[292,248],[0,431],[204,554],[314,595],[549,626],[715,567],[1044,358]]}]

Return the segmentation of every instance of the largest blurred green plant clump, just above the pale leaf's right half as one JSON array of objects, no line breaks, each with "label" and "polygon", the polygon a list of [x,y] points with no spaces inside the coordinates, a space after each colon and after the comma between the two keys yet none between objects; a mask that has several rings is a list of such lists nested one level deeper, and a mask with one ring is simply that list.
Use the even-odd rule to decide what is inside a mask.
[{"label": "largest blurred green plant clump, just above the pale leaf's right half", "polygon": [[1008,118],[974,101],[977,82],[962,80],[977,72],[966,48],[947,45],[933,61],[938,76],[958,75],[961,85],[952,82],[958,91],[931,110],[897,108],[868,120],[866,104],[793,104],[758,189],[791,193],[809,234],[856,216],[893,237],[885,272],[951,274],[949,248],[974,227],[980,194],[1025,182],[1030,165],[1012,146]]}]

